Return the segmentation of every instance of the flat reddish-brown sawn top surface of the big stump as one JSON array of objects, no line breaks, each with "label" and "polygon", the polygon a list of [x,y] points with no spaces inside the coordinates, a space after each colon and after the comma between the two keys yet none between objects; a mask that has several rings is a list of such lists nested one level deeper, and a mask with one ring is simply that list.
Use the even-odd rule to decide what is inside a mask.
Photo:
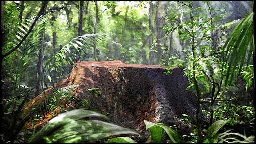
[{"label": "flat reddish-brown sawn top surface of the big stump", "polygon": [[143,65],[143,64],[126,64],[122,61],[81,61],[76,62],[80,66],[92,67],[109,67],[109,68],[151,68],[151,69],[165,69],[165,67],[157,65]]}]

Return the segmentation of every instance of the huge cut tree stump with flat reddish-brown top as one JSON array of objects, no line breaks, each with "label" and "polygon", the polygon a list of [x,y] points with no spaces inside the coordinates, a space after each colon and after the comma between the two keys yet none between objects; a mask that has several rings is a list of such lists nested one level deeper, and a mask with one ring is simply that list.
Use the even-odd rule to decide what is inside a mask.
[{"label": "huge cut tree stump with flat reddish-brown top", "polygon": [[[117,125],[144,131],[144,120],[148,120],[177,125],[181,132],[187,133],[191,125],[179,119],[187,114],[194,121],[196,99],[192,92],[185,90],[189,82],[182,69],[174,68],[168,76],[165,71],[164,67],[155,65],[82,61],[76,63],[67,79],[59,82],[61,85],[56,85],[79,85],[73,96],[88,98],[91,108],[107,113]],[[88,88],[98,88],[102,93],[92,96]]]}]

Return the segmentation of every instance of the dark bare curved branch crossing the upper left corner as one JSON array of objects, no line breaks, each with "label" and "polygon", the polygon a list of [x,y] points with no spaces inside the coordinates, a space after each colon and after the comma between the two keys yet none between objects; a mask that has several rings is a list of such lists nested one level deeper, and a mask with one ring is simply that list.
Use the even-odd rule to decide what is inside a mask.
[{"label": "dark bare curved branch crossing the upper left corner", "polygon": [[22,38],[22,40],[20,41],[20,43],[18,45],[16,45],[13,49],[11,49],[9,52],[7,52],[6,54],[2,55],[2,59],[8,55],[10,55],[12,52],[16,51],[21,44],[26,40],[26,38],[29,36],[30,32],[32,31],[33,27],[36,25],[37,20],[39,19],[40,15],[42,14],[42,12],[44,11],[44,8],[47,6],[48,1],[43,1],[42,2],[42,7],[41,10],[38,12],[37,17],[35,18],[34,22],[32,23],[32,25],[30,26],[27,34]]}]

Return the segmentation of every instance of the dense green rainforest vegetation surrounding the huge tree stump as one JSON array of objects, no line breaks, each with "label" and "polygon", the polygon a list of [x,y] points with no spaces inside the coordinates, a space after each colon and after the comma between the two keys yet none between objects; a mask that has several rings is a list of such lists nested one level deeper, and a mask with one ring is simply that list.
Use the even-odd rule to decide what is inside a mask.
[{"label": "dense green rainforest vegetation surrounding the huge tree stump", "polygon": [[[1,143],[254,143],[253,3],[1,1]],[[112,60],[182,69],[196,99],[193,117],[179,117],[190,132],[119,126],[76,96],[99,88],[63,87],[77,62]]]}]

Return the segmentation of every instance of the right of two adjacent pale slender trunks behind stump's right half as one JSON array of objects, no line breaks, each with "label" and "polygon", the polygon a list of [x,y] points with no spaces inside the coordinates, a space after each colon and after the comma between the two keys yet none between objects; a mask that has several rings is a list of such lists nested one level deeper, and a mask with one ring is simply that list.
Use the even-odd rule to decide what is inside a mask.
[{"label": "right of two adjacent pale slender trunks behind stump's right half", "polygon": [[162,50],[161,50],[161,19],[159,18],[160,17],[160,14],[159,14],[159,6],[160,6],[160,1],[157,1],[157,5],[156,5],[156,17],[155,17],[155,31],[156,31],[156,42],[157,42],[157,45],[156,45],[156,48],[157,48],[157,62],[159,62],[159,60],[161,59],[161,53],[162,53]]}]

